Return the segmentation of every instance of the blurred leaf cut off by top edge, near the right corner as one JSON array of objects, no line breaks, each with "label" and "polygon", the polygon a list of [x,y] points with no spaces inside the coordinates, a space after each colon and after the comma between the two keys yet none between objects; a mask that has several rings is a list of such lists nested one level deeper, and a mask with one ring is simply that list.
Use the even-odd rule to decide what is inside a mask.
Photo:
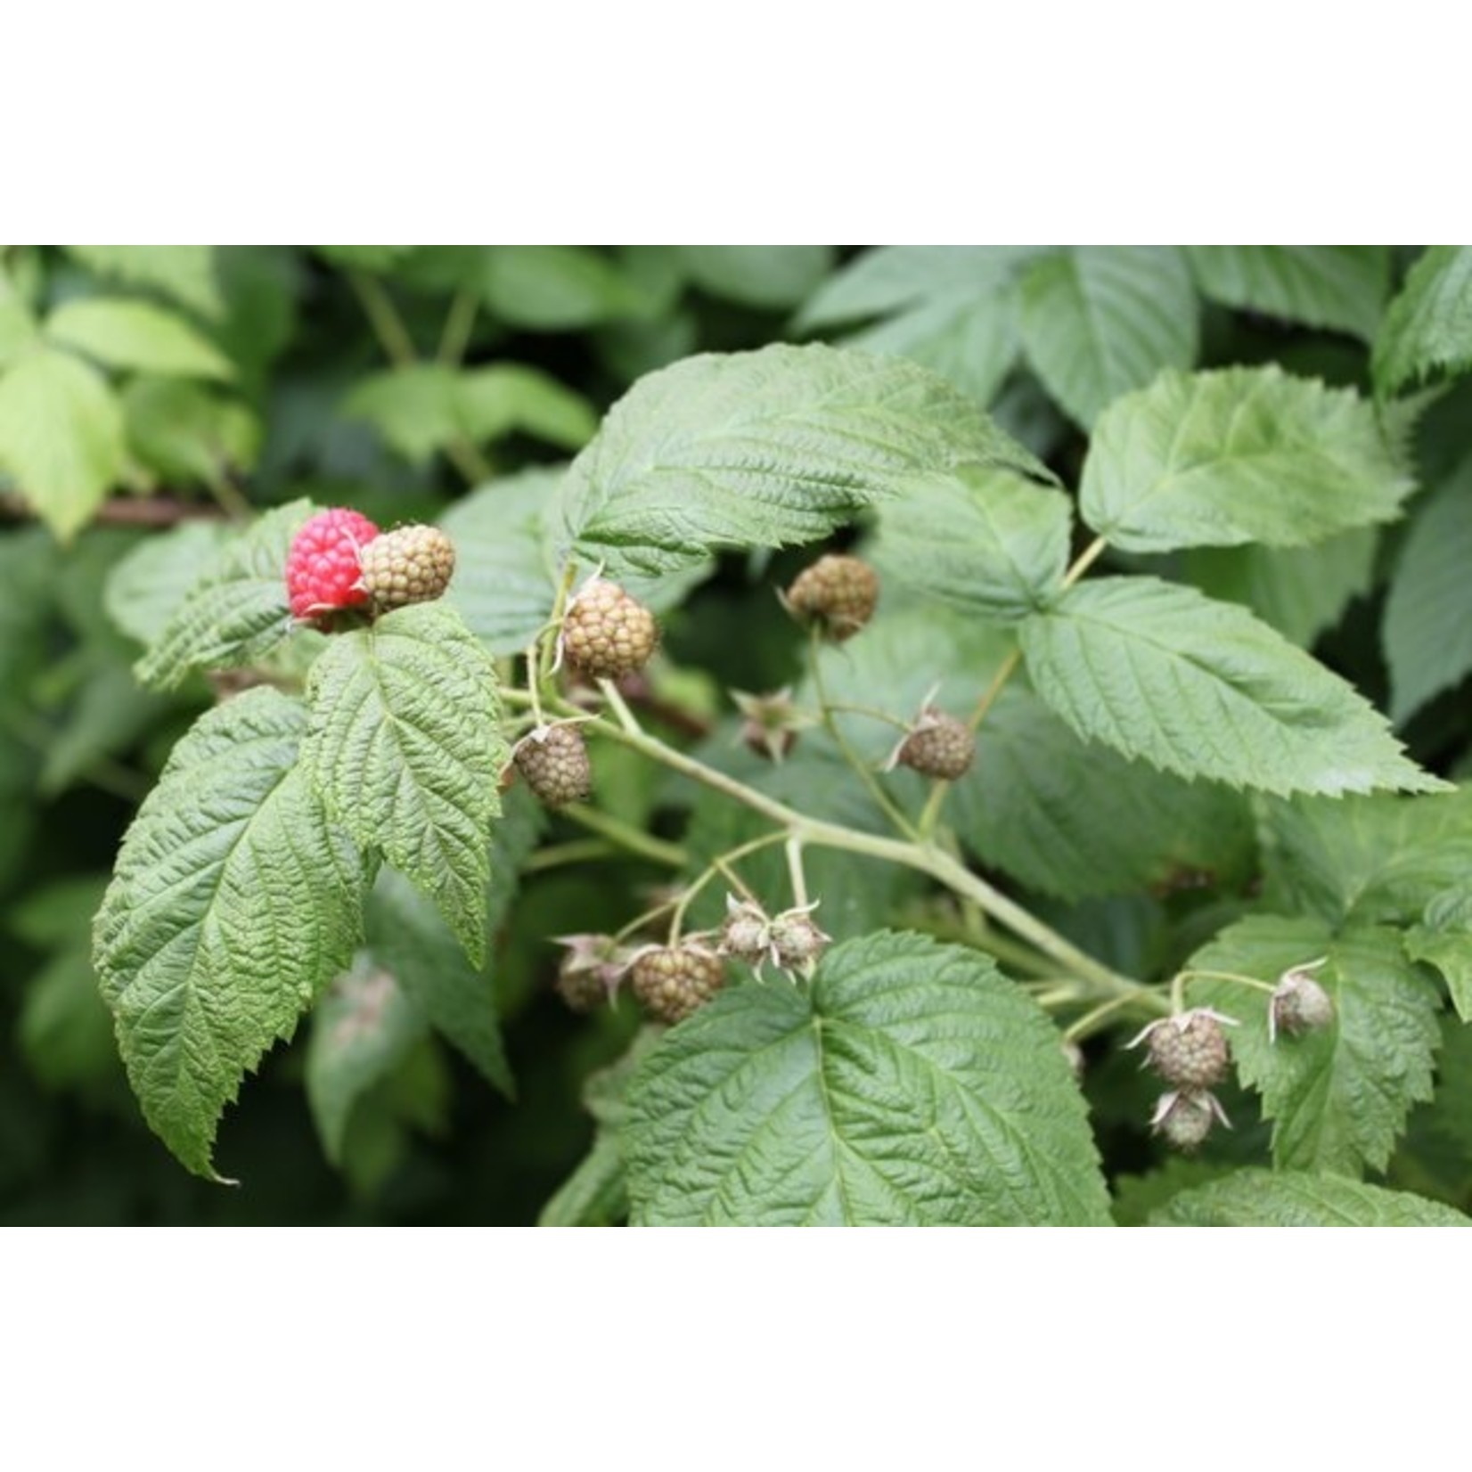
[{"label": "blurred leaf cut off by top edge, near the right corner", "polygon": [[1186,246],[1186,256],[1213,302],[1366,342],[1390,290],[1385,246]]}]

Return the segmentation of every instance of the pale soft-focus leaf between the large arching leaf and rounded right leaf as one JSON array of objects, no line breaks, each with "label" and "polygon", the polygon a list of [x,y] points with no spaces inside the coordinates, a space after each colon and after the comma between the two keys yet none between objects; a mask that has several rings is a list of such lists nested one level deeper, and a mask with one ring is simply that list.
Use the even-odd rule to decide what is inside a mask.
[{"label": "pale soft-focus leaf between the large arching leaf and rounded right leaf", "polygon": [[1005,470],[961,465],[917,477],[882,503],[871,551],[880,573],[1013,623],[1063,586],[1073,506]]}]

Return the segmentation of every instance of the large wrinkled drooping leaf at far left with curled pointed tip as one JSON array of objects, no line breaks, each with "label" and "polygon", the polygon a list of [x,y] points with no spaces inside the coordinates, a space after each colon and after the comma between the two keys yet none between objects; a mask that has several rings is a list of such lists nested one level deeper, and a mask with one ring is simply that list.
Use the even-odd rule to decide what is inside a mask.
[{"label": "large wrinkled drooping leaf at far left with curled pointed tip", "polygon": [[277,690],[209,711],[124,839],[94,961],[143,1113],[203,1176],[244,1075],[352,958],[362,860],[296,767]]}]

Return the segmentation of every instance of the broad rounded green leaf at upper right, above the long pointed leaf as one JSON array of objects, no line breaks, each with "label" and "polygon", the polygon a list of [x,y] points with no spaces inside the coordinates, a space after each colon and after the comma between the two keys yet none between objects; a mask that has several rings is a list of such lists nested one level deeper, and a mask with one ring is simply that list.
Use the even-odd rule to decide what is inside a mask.
[{"label": "broad rounded green leaf at upper right, above the long pointed leaf", "polygon": [[1163,374],[1100,417],[1083,520],[1129,552],[1303,546],[1393,520],[1412,480],[1373,408],[1281,368]]}]

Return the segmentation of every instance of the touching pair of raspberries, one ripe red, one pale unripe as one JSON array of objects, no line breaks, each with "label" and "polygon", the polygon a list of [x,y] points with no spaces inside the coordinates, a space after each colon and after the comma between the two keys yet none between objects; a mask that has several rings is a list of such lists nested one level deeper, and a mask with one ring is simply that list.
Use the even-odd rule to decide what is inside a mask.
[{"label": "touching pair of raspberries, one ripe red, one pale unripe", "polygon": [[294,618],[330,623],[349,608],[384,611],[439,598],[455,573],[455,546],[439,527],[380,531],[347,506],[311,517],[286,559]]}]

